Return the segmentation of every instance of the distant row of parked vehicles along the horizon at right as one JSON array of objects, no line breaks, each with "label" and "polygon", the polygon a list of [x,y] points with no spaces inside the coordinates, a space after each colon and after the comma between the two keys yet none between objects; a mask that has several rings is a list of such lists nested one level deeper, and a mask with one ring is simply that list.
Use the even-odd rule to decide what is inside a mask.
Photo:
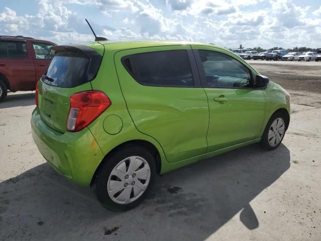
[{"label": "distant row of parked vehicles along the horizon at right", "polygon": [[239,50],[232,50],[232,52],[243,59],[261,59],[261,60],[282,60],[282,61],[321,61],[321,50],[317,52],[289,52],[286,50],[268,50],[258,53],[257,51],[247,50],[242,53]]}]

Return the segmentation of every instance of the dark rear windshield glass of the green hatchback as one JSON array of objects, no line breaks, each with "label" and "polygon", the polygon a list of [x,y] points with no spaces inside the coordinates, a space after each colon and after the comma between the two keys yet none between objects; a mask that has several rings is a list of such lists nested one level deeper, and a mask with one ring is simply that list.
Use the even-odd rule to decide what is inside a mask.
[{"label": "dark rear windshield glass of the green hatchback", "polygon": [[61,51],[52,59],[42,81],[57,87],[72,88],[84,84],[88,77],[90,58],[82,52]]}]

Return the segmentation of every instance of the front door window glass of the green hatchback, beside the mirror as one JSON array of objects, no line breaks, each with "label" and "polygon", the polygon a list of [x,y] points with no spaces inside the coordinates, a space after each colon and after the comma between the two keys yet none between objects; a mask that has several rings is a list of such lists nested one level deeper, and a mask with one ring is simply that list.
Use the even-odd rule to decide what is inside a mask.
[{"label": "front door window glass of the green hatchback, beside the mirror", "polygon": [[250,70],[236,59],[215,51],[199,50],[205,72],[205,87],[249,88]]}]

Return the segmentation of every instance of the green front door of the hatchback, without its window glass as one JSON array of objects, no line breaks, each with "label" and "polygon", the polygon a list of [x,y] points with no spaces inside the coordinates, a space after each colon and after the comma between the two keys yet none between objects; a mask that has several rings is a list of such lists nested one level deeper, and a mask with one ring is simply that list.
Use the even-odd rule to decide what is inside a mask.
[{"label": "green front door of the hatchback, without its window glass", "polygon": [[[238,59],[235,55],[230,55],[230,52],[215,47],[192,46],[192,48],[215,51]],[[194,51],[194,53],[196,58],[199,59],[198,67],[201,78],[206,78],[198,51]],[[239,62],[242,63],[243,61]],[[256,72],[254,72],[254,75],[256,75]],[[220,78],[226,77],[220,76]],[[265,113],[265,97],[261,89],[237,87],[204,87],[204,89],[208,96],[210,108],[207,152],[260,138]],[[223,97],[227,101],[217,101],[219,97]]]}]

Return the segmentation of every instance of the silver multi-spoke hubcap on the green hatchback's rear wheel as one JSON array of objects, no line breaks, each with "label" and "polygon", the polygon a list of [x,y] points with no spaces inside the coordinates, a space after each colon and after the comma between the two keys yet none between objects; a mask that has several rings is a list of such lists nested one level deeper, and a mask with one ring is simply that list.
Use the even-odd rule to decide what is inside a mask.
[{"label": "silver multi-spoke hubcap on the green hatchback's rear wheel", "polygon": [[131,156],[121,160],[111,171],[107,192],[118,204],[137,200],[146,190],[150,180],[150,168],[145,159]]}]

